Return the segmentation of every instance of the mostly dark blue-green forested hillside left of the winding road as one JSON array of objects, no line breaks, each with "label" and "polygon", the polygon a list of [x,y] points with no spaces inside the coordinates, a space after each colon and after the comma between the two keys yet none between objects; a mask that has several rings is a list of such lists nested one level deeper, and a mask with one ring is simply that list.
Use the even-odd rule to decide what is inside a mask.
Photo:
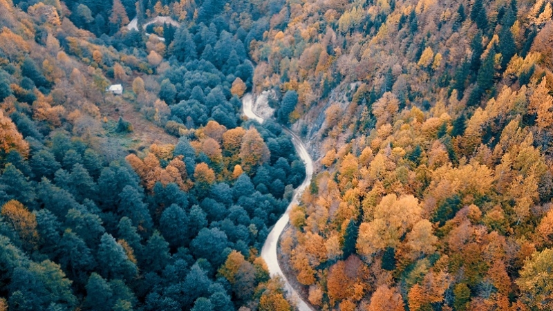
[{"label": "mostly dark blue-green forested hillside left of the winding road", "polygon": [[305,168],[241,118],[234,2],[0,1],[0,310],[290,310],[258,254]]}]

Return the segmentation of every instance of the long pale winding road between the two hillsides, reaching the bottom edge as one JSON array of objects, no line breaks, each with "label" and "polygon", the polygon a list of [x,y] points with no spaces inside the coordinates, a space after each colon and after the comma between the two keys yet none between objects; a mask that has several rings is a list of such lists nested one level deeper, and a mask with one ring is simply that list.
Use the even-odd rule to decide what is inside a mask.
[{"label": "long pale winding road between the two hillsides, reaching the bottom edge", "polygon": [[[253,105],[254,99],[251,93],[248,93],[242,97],[242,107],[244,115],[252,120],[256,120],[259,123],[263,123],[265,119],[254,113]],[[294,191],[292,202],[290,202],[290,205],[288,205],[284,214],[281,216],[281,218],[279,218],[277,223],[274,224],[274,227],[272,227],[272,230],[269,233],[269,236],[267,236],[267,239],[263,244],[263,248],[261,249],[261,258],[263,258],[263,260],[265,260],[265,263],[267,263],[271,276],[281,276],[284,281],[285,290],[290,293],[290,295],[292,296],[292,300],[297,303],[298,310],[312,311],[313,309],[310,307],[310,305],[306,303],[306,301],[303,301],[301,299],[299,294],[296,292],[296,290],[294,290],[294,288],[292,288],[292,285],[290,285],[290,283],[286,279],[286,276],[283,274],[281,267],[279,266],[279,261],[277,258],[277,246],[279,243],[279,237],[281,236],[284,228],[286,227],[286,225],[288,225],[288,221],[290,220],[290,209],[292,209],[292,205],[297,205],[299,203],[299,196],[301,196],[303,190],[308,187],[313,175],[313,160],[309,156],[309,153],[307,152],[306,147],[303,145],[303,142],[301,142],[301,139],[289,129],[286,129],[285,127],[283,127],[282,129],[283,131],[285,131],[285,133],[292,137],[292,143],[294,144],[296,152],[299,154],[301,160],[303,160],[303,162],[306,164],[306,179],[303,180],[301,185],[299,185],[299,187],[297,187],[297,189]]]}]

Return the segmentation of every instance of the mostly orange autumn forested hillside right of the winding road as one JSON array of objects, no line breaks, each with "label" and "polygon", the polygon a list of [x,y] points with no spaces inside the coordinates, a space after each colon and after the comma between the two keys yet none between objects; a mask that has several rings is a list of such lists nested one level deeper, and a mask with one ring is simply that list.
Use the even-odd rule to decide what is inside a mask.
[{"label": "mostly orange autumn forested hillside right of the winding road", "polygon": [[552,39],[541,0],[286,1],[271,17],[254,88],[321,154],[281,239],[312,305],[553,309]]}]

